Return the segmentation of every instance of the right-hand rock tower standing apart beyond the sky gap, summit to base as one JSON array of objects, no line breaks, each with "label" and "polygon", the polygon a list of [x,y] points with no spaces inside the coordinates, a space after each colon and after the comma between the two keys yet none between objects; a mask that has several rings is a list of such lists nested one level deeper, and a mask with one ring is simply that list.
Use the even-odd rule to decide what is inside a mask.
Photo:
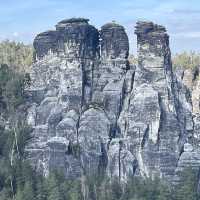
[{"label": "right-hand rock tower standing apart beyond the sky gap, summit to base", "polygon": [[138,66],[126,113],[125,136],[143,176],[173,176],[179,157],[178,124],[168,35],[138,22]]}]

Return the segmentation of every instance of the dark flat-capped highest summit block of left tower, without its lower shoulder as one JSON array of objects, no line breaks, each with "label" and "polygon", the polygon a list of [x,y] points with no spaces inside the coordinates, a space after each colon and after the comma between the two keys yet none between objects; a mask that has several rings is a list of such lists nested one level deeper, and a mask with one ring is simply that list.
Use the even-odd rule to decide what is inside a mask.
[{"label": "dark flat-capped highest summit block of left tower, without its lower shoulder", "polygon": [[99,33],[87,19],[63,20],[56,25],[59,49],[70,58],[95,59],[99,54]]}]

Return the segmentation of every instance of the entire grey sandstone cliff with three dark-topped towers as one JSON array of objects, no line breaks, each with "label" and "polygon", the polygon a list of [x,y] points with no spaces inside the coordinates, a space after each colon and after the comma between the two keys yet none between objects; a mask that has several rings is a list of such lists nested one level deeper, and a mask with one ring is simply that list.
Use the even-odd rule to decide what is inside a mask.
[{"label": "entire grey sandstone cliff with three dark-topped towers", "polygon": [[62,169],[70,178],[98,173],[122,181],[176,181],[184,167],[199,168],[196,93],[172,71],[165,28],[137,23],[133,66],[124,28],[108,23],[98,31],[88,21],[63,20],[34,40],[31,163],[44,175]]}]

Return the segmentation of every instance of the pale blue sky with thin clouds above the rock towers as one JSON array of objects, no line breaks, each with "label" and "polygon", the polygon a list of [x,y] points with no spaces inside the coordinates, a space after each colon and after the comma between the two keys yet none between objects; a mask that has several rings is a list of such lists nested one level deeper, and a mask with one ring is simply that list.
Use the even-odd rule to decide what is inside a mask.
[{"label": "pale blue sky with thin clouds above the rock towers", "polygon": [[135,22],[154,21],[166,26],[172,53],[200,52],[200,0],[0,0],[0,40],[32,43],[37,33],[70,17],[89,18],[97,28],[117,21],[126,28],[132,52]]}]

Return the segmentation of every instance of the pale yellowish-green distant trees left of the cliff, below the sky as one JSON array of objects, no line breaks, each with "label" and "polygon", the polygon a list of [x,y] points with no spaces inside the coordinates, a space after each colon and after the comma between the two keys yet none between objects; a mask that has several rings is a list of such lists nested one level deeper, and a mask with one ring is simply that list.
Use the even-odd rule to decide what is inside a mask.
[{"label": "pale yellowish-green distant trees left of the cliff, below the sky", "polygon": [[33,48],[20,42],[0,42],[0,64],[7,64],[18,72],[27,72],[32,64]]}]

